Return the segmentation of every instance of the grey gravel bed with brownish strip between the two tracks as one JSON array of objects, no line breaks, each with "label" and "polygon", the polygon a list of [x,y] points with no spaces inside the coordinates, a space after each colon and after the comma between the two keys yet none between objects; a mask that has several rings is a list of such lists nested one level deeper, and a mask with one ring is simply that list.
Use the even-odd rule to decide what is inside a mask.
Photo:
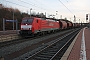
[{"label": "grey gravel bed with brownish strip between the two tracks", "polygon": [[[78,29],[78,30],[80,30],[80,29]],[[31,56],[32,54],[36,53],[36,51],[39,51],[42,48],[44,48],[44,47],[46,47],[48,45],[51,45],[52,42],[58,41],[58,39],[59,39],[58,37],[61,37],[61,36],[65,35],[67,33],[70,33],[72,31],[74,31],[74,29],[67,30],[67,31],[62,31],[62,32],[59,32],[59,33],[56,33],[56,34],[47,35],[47,37],[44,35],[44,36],[41,36],[40,38],[39,37],[36,38],[35,40],[32,39],[32,38],[26,39],[24,41],[21,40],[22,42],[17,42],[17,43],[5,46],[5,48],[4,47],[1,48],[0,49],[0,51],[2,51],[1,56],[5,57],[6,60],[7,59],[8,60],[25,60],[24,57],[28,58],[27,55]],[[62,37],[62,38],[64,38],[64,37]],[[32,39],[33,42],[30,42],[30,39]],[[39,40],[41,40],[41,41],[39,41]],[[28,43],[25,43],[25,42],[28,42]],[[19,44],[21,44],[21,45],[19,45]],[[12,45],[12,47],[11,47],[11,45]],[[18,46],[13,46],[13,45],[18,45]],[[27,45],[27,46],[25,47],[24,45]],[[39,46],[40,46],[40,48],[39,48]],[[17,49],[17,47],[18,47],[18,49]],[[37,50],[37,48],[38,48],[38,50]],[[34,51],[34,50],[36,50],[36,51]],[[23,55],[25,55],[25,56],[23,56]]]}]

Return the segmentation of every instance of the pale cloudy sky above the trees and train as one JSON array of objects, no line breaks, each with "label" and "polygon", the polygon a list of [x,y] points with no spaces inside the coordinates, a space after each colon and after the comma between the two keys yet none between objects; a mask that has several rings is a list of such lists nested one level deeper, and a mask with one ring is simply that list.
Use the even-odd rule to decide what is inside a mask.
[{"label": "pale cloudy sky above the trees and train", "polygon": [[45,13],[46,16],[55,15],[55,18],[67,18],[74,22],[86,22],[86,14],[90,13],[89,0],[0,0],[0,3],[17,8],[22,12]]}]

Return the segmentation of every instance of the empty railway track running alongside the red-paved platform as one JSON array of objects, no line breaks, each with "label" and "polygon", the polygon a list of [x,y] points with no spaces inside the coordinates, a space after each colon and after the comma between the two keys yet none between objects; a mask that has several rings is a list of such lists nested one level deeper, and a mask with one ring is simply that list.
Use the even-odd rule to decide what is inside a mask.
[{"label": "empty railway track running alongside the red-paved platform", "polygon": [[42,50],[36,52],[24,60],[60,60],[63,53],[66,51],[78,32],[79,30],[73,31],[58,38],[56,42],[46,46]]}]

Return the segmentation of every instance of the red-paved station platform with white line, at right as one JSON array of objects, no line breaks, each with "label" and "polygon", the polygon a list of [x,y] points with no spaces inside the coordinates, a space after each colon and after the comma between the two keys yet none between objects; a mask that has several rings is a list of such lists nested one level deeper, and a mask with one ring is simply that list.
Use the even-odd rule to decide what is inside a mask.
[{"label": "red-paved station platform with white line, at right", "polygon": [[90,60],[90,28],[83,28],[60,60]]}]

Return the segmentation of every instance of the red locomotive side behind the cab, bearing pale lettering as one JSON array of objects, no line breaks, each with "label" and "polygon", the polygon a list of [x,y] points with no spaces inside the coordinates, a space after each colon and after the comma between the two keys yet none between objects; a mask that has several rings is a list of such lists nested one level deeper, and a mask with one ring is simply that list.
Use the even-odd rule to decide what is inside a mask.
[{"label": "red locomotive side behind the cab, bearing pale lettering", "polygon": [[54,20],[42,20],[41,31],[51,31],[59,29],[59,22]]}]

